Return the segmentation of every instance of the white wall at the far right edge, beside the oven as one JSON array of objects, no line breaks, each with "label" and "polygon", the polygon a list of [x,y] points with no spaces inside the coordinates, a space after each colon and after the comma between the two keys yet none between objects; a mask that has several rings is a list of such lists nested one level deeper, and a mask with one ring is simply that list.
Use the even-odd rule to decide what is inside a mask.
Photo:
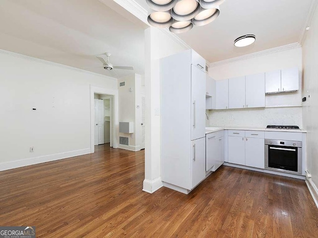
[{"label": "white wall at the far right edge, beside the oven", "polygon": [[[317,4],[316,4],[317,5]],[[318,199],[318,7],[303,44],[304,87],[303,121],[307,129],[307,169],[312,175],[309,179]],[[314,196],[314,197],[315,197]],[[316,200],[317,202],[317,200]],[[316,203],[318,206],[318,203]]]}]

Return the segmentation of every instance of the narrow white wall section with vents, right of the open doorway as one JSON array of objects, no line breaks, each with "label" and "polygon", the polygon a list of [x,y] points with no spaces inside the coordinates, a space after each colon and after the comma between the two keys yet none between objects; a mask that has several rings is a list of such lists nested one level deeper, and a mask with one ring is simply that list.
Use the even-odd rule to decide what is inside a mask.
[{"label": "narrow white wall section with vents, right of the open doorway", "polygon": [[[119,86],[125,82],[125,86]],[[131,89],[131,91],[130,91]],[[141,75],[131,74],[118,79],[119,121],[134,122],[134,133],[119,133],[119,136],[129,137],[129,146],[119,144],[119,148],[133,151],[140,150],[141,143]]]}]

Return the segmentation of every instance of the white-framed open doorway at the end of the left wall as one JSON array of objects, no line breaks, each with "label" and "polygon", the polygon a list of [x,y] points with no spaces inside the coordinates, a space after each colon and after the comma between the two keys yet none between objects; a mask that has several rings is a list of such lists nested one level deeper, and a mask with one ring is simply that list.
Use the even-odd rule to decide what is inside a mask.
[{"label": "white-framed open doorway at the end of the left wall", "polygon": [[90,86],[90,153],[109,142],[118,148],[118,90]]}]

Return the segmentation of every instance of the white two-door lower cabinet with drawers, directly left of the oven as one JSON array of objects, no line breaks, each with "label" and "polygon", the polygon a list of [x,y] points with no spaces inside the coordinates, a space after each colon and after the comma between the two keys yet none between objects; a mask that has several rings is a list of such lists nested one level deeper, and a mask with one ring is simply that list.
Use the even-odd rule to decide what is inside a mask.
[{"label": "white two-door lower cabinet with drawers, directly left of the oven", "polygon": [[265,168],[264,131],[242,131],[232,134],[244,136],[228,137],[229,163],[249,167]]}]

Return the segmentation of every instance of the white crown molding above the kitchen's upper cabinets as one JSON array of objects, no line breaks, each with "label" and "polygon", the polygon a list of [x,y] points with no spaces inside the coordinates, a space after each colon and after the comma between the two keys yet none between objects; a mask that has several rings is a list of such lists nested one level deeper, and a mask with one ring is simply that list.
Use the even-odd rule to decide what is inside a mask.
[{"label": "white crown molding above the kitchen's upper cabinets", "polygon": [[259,52],[255,52],[252,54],[231,58],[228,60],[221,60],[221,61],[213,62],[213,63],[210,63],[210,67],[215,67],[215,66],[219,66],[219,65],[223,65],[223,64],[227,64],[227,63],[232,63],[232,62],[237,62],[237,61],[241,61],[241,60],[248,60],[248,59],[252,59],[252,58],[256,58],[256,57],[270,55],[273,53],[289,51],[289,50],[293,50],[293,49],[297,49],[297,48],[301,48],[301,47],[302,46],[299,43],[293,43],[293,44],[289,44],[286,46],[280,46],[280,47],[268,49],[265,51],[259,51]]}]

